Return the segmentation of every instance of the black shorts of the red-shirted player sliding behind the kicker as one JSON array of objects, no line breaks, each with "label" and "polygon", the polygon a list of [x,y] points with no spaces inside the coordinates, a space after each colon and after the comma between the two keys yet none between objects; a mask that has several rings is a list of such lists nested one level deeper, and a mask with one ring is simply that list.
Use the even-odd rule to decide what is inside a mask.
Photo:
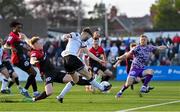
[{"label": "black shorts of the red-shirted player sliding behind the kicker", "polygon": [[63,78],[65,77],[65,75],[66,73],[61,71],[52,71],[45,73],[46,85],[53,82],[64,83]]}]

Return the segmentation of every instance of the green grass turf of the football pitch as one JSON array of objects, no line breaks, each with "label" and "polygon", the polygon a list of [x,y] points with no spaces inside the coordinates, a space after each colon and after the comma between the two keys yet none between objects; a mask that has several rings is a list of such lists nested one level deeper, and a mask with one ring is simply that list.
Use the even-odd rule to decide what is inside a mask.
[{"label": "green grass turf of the football pitch", "polygon": [[[85,92],[84,86],[75,86],[65,96],[63,104],[57,102],[55,98],[65,86],[64,84],[54,83],[54,94],[34,103],[23,102],[23,96],[18,94],[17,88],[13,86],[13,94],[0,94],[0,111],[119,111],[180,100],[179,81],[152,82],[151,85],[155,89],[141,98],[138,95],[140,89],[140,84],[138,84],[135,85],[134,91],[130,89],[125,91],[119,100],[114,96],[123,82],[112,81],[111,83],[113,87],[109,94],[102,94],[98,91],[93,94]],[[44,90],[42,82],[38,83],[38,89],[39,91]],[[30,89],[29,92],[31,91]],[[180,102],[135,111],[180,111]]]}]

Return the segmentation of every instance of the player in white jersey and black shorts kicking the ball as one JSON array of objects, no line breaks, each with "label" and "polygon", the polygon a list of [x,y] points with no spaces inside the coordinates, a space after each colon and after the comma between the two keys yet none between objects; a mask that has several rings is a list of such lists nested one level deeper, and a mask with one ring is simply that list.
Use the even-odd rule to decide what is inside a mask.
[{"label": "player in white jersey and black shorts kicking the ball", "polygon": [[94,87],[100,89],[101,91],[107,91],[111,88],[111,86],[102,86],[98,82],[93,79],[91,74],[88,72],[88,70],[84,67],[84,64],[82,61],[78,58],[78,52],[79,50],[84,51],[89,57],[96,60],[99,63],[104,63],[101,59],[94,56],[85,45],[85,41],[89,39],[89,37],[92,37],[92,32],[89,28],[83,29],[82,33],[76,33],[72,32],[70,34],[63,35],[64,40],[68,40],[66,49],[62,52],[62,57],[64,61],[64,68],[68,74],[70,74],[73,78],[73,81],[66,84],[66,87],[63,89],[63,91],[60,93],[59,96],[57,96],[57,99],[59,101],[62,101],[64,98],[64,95],[72,88],[72,86],[78,82],[78,75],[76,72],[80,73],[82,76],[84,76],[91,85]]}]

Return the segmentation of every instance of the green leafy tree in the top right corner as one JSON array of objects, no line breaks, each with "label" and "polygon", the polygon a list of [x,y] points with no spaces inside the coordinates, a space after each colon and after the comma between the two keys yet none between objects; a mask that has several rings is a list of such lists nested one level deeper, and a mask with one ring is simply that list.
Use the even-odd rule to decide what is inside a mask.
[{"label": "green leafy tree in the top right corner", "polygon": [[158,0],[151,6],[154,29],[180,29],[180,0]]}]

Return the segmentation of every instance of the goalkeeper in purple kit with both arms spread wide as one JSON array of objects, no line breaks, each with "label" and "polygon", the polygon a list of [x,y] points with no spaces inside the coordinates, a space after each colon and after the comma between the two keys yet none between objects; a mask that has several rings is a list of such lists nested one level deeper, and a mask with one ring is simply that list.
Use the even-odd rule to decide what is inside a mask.
[{"label": "goalkeeper in purple kit with both arms spread wide", "polygon": [[147,93],[148,90],[148,84],[151,81],[153,77],[153,70],[152,69],[146,69],[146,63],[149,61],[150,55],[154,50],[163,50],[166,49],[167,46],[153,46],[147,44],[147,36],[141,35],[140,36],[140,44],[134,47],[129,52],[123,54],[119,57],[119,61],[122,61],[129,57],[130,55],[133,55],[133,61],[131,65],[131,69],[128,74],[128,78],[126,80],[126,83],[121,88],[121,90],[116,94],[116,98],[120,98],[123,94],[123,92],[131,86],[135,81],[139,82],[140,80],[138,77],[145,77],[144,83],[141,87],[140,92],[141,93]]}]

